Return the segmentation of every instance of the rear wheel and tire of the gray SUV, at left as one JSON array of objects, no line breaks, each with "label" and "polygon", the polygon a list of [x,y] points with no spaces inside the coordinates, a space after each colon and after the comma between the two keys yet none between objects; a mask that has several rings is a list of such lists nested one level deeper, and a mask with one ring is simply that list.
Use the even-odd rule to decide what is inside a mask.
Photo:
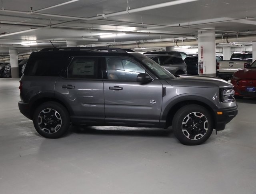
[{"label": "rear wheel and tire of the gray SUV, at left", "polygon": [[36,108],[33,123],[41,136],[60,138],[70,127],[70,115],[58,102],[45,102]]}]

